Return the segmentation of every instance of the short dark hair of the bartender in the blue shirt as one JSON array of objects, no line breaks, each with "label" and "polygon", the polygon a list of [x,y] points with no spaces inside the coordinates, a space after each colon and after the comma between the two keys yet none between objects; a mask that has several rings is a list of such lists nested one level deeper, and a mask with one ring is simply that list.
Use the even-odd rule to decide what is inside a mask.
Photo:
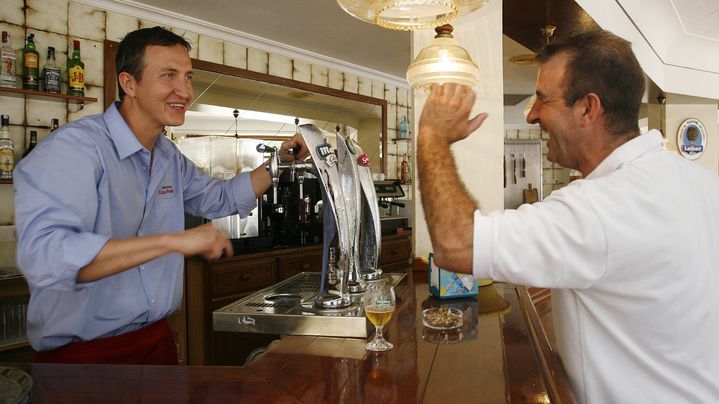
[{"label": "short dark hair of the bartender in the blue shirt", "polygon": [[120,42],[115,56],[115,76],[118,77],[118,91],[120,100],[125,98],[125,91],[119,83],[122,72],[130,73],[137,81],[142,80],[145,49],[151,45],[173,46],[182,45],[189,52],[192,47],[185,38],[162,27],[143,28],[125,35]]}]

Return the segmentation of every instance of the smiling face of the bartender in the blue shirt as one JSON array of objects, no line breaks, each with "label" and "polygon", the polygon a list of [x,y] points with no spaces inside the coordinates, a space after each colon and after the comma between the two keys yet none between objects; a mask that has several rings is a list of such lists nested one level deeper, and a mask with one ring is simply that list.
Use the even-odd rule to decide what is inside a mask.
[{"label": "smiling face of the bartender in the blue shirt", "polygon": [[185,122],[185,112],[192,101],[192,63],[185,47],[148,46],[142,78],[137,81],[129,76],[127,80],[123,104],[129,101],[136,125],[159,133],[165,126]]}]

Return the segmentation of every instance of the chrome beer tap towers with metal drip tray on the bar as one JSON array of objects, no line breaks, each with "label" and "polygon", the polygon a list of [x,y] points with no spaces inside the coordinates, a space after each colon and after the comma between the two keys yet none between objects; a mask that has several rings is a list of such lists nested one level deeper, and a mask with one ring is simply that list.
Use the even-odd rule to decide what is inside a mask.
[{"label": "chrome beer tap towers with metal drip tray on the bar", "polygon": [[[292,180],[283,176],[304,175],[303,192],[310,176],[318,180],[322,196],[322,209],[317,213],[323,229],[321,271],[302,272],[216,310],[213,328],[365,338],[369,323],[360,304],[365,282],[386,277],[396,285],[405,277],[383,274],[378,265],[382,244],[380,209],[369,160],[358,144],[339,134],[333,147],[328,135],[314,125],[301,125],[299,131],[310,151],[310,160],[283,164],[277,150],[258,148],[271,154],[268,170],[273,187],[266,208],[277,211],[286,207],[281,183]],[[299,186],[299,179],[295,182]],[[330,282],[332,278],[334,282]]]}]

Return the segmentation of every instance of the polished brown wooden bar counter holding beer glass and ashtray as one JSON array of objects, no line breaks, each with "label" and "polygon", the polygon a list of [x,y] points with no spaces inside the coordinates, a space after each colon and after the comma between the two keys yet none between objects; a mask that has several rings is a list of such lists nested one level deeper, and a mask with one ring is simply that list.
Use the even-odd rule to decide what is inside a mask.
[{"label": "polished brown wooden bar counter holding beer glass and ashtray", "polygon": [[[572,403],[574,397],[523,287],[439,300],[411,276],[385,327],[394,349],[365,340],[288,336],[248,366],[17,365],[33,402]],[[458,332],[422,324],[428,307],[464,311]]]}]

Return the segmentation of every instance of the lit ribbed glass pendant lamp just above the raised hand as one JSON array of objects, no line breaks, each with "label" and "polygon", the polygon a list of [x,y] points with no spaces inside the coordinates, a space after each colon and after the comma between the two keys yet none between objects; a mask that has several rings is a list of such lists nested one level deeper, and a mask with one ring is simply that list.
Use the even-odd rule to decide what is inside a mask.
[{"label": "lit ribbed glass pendant lamp just above the raised hand", "polygon": [[435,28],[437,35],[422,49],[407,69],[407,81],[418,90],[429,92],[432,84],[459,83],[474,87],[479,67],[466,49],[452,36],[451,25]]}]

